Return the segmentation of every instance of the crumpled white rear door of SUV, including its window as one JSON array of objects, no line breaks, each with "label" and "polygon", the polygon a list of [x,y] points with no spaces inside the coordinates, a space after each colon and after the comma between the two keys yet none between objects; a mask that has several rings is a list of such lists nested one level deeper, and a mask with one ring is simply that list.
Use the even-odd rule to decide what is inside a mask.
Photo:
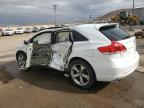
[{"label": "crumpled white rear door of SUV, including its window", "polygon": [[57,31],[55,33],[55,43],[52,45],[53,57],[50,67],[64,71],[68,57],[72,52],[71,33],[69,30]]}]

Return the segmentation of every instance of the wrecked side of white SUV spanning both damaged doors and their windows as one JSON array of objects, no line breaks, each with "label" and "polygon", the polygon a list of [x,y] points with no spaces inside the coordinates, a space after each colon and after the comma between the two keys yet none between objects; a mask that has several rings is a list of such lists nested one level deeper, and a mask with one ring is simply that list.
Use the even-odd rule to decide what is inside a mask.
[{"label": "wrecked side of white SUV spanning both damaged doors and their windows", "polygon": [[44,65],[60,71],[64,71],[68,63],[68,58],[72,52],[73,42],[69,41],[70,32],[58,32],[55,42],[51,33],[42,33],[33,39],[27,47],[26,68],[34,65]]}]

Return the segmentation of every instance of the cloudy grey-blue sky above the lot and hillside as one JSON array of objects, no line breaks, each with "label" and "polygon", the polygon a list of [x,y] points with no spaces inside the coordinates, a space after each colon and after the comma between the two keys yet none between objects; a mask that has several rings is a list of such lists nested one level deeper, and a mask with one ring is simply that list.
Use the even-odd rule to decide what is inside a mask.
[{"label": "cloudy grey-blue sky above the lot and hillside", "polygon": [[[53,5],[57,4],[58,22],[89,19],[122,8],[132,8],[132,0],[0,0],[1,24],[37,24],[54,21]],[[135,0],[143,7],[144,0]]]}]

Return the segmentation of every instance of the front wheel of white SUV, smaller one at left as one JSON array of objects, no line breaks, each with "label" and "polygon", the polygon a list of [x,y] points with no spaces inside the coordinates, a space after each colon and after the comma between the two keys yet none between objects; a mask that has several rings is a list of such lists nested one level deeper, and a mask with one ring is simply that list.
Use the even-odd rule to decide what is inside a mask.
[{"label": "front wheel of white SUV, smaller one at left", "polygon": [[18,62],[18,66],[19,66],[19,69],[22,70],[22,71],[26,71],[27,68],[26,68],[26,55],[24,53],[18,53],[17,54],[17,62]]}]

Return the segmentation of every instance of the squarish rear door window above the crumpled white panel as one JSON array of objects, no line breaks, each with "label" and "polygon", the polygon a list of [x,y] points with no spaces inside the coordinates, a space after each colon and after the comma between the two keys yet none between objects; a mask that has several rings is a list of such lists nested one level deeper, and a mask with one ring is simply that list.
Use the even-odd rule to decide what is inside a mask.
[{"label": "squarish rear door window above the crumpled white panel", "polygon": [[59,32],[56,35],[56,42],[67,42],[69,41],[69,32]]}]

